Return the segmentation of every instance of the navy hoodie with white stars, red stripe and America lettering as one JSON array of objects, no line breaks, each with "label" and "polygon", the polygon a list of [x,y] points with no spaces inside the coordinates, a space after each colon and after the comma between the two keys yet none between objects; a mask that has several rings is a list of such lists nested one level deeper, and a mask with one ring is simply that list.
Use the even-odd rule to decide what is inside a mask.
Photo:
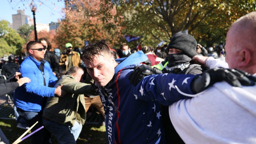
[{"label": "navy hoodie with white stars, red stripe and America lettering", "polygon": [[130,84],[128,77],[134,66],[147,59],[142,51],[116,59],[119,64],[113,79],[100,89],[109,144],[165,144],[159,102],[170,105],[188,98],[177,92],[174,85],[185,93],[193,94],[190,83],[194,75],[151,75],[137,86]]}]

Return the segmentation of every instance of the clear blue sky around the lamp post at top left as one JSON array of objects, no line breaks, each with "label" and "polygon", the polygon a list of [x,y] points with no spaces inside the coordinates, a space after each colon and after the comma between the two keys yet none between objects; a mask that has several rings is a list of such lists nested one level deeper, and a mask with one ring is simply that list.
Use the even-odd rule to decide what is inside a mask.
[{"label": "clear blue sky around the lamp post at top left", "polygon": [[[11,2],[12,1],[12,2]],[[32,0],[1,0],[0,20],[7,20],[12,23],[12,15],[17,14],[17,10],[25,10],[25,15],[33,18],[33,14],[29,8]],[[35,0],[37,5],[36,23],[48,24],[57,22],[58,19],[64,17],[62,8],[64,8],[64,0]]]}]

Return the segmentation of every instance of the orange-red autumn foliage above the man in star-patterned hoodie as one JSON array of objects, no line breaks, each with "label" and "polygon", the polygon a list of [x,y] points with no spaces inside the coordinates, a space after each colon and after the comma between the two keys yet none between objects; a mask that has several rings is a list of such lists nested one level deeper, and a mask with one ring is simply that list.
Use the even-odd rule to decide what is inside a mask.
[{"label": "orange-red autumn foliage above the man in star-patterned hoodie", "polygon": [[119,42],[122,27],[120,17],[116,17],[116,8],[111,3],[101,0],[70,0],[65,1],[65,19],[57,29],[56,40],[60,49],[65,43],[74,47],[83,47],[84,41],[89,43],[101,39],[111,44]]}]

